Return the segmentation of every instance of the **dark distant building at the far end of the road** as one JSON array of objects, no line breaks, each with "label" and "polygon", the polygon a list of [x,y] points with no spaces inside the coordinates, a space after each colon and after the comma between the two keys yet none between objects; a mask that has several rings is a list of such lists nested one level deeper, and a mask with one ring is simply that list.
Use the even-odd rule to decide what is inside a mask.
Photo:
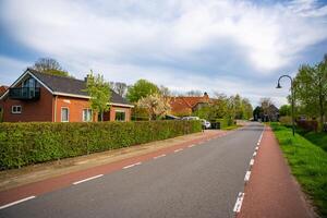
[{"label": "dark distant building at the far end of the road", "polygon": [[253,119],[255,121],[275,122],[279,120],[279,109],[275,105],[270,105],[269,108],[264,111],[262,107],[257,106],[253,111]]}]

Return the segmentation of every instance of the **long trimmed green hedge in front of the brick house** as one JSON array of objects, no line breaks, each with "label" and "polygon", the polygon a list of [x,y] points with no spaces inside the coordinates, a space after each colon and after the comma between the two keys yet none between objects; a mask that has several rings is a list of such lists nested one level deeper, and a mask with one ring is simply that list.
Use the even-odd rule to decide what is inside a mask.
[{"label": "long trimmed green hedge in front of the brick house", "polygon": [[0,123],[0,169],[199,132],[198,121]]}]

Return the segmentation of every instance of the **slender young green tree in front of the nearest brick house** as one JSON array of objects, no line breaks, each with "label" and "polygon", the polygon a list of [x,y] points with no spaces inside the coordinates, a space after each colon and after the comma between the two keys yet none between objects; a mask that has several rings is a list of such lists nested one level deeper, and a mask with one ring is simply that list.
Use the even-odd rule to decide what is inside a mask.
[{"label": "slender young green tree in front of the nearest brick house", "polygon": [[90,96],[90,108],[100,114],[104,121],[104,112],[109,110],[108,101],[111,99],[110,85],[100,74],[94,75],[93,71],[87,75],[86,92]]}]

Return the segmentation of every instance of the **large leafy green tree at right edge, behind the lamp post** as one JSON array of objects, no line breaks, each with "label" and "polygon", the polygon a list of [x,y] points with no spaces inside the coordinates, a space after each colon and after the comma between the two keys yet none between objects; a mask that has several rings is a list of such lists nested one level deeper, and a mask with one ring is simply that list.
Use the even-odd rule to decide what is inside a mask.
[{"label": "large leafy green tree at right edge, behind the lamp post", "polygon": [[294,78],[296,105],[310,117],[318,117],[320,126],[327,110],[327,56],[316,65],[301,65]]}]

